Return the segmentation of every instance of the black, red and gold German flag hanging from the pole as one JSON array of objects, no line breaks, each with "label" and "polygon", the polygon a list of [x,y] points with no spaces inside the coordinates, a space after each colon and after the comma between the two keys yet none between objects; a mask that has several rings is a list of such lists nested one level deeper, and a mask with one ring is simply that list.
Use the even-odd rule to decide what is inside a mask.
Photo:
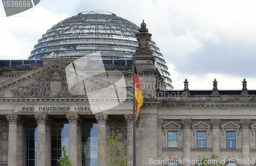
[{"label": "black, red and gold German flag hanging from the pole", "polygon": [[139,111],[140,111],[140,107],[142,105],[142,101],[143,101],[143,96],[142,96],[142,93],[141,93],[141,88],[140,88],[140,81],[139,81],[139,77],[138,77],[138,74],[137,74],[137,70],[136,70],[136,67],[135,67],[135,107],[136,107],[136,119],[135,119],[135,122],[137,121],[138,119],[138,114],[139,114]]}]

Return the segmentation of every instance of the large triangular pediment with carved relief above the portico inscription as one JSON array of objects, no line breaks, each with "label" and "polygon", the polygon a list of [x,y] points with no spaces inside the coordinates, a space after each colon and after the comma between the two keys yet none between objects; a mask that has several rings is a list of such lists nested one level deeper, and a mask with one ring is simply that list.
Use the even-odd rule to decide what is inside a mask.
[{"label": "large triangular pediment with carved relief above the portico inscription", "polygon": [[[30,70],[24,74],[8,79],[0,84],[0,97],[76,97],[88,96],[107,97],[111,94],[125,96],[126,90],[118,86],[110,85],[108,81],[90,76],[90,81],[86,81],[87,87],[92,87],[88,91],[84,88],[84,82],[68,87],[66,76],[67,65],[57,61],[49,62],[38,68]],[[84,73],[83,73],[84,74]],[[79,74],[78,74],[79,75]],[[80,74],[80,78],[82,74]],[[88,76],[89,77],[89,76]],[[77,77],[77,79],[79,79]],[[104,89],[104,93],[96,91]],[[119,97],[120,99],[120,97]]]}]

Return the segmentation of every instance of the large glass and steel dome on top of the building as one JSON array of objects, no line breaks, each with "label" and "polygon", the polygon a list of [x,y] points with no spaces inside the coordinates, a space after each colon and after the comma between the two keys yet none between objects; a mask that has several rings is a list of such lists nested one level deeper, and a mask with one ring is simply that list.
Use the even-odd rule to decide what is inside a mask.
[{"label": "large glass and steel dome on top of the building", "polygon": [[[98,51],[102,59],[131,59],[138,47],[135,35],[139,28],[111,12],[81,12],[53,25],[38,40],[29,59],[79,58]],[[168,67],[153,40],[150,48],[167,89],[173,89]]]}]

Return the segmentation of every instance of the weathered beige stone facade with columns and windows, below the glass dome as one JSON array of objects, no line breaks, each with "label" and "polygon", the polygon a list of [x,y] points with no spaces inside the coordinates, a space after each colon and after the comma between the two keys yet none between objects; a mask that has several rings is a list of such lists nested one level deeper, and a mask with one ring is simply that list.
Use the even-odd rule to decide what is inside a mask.
[{"label": "weathered beige stone facade with columns and windows, below the glass dome", "polygon": [[[190,91],[187,79],[184,91],[163,91],[163,78],[148,49],[151,34],[144,22],[137,37],[139,48],[135,63],[144,93],[136,122],[137,165],[165,166],[162,162],[165,159],[202,160],[212,154],[218,155],[224,163],[232,158],[255,159],[256,93],[247,90],[245,79],[241,91],[220,91],[216,79],[212,91]],[[37,122],[37,165],[51,165],[53,118],[68,120],[69,156],[75,166],[82,165],[81,122],[86,118],[98,123],[98,152],[111,132],[116,134],[119,130],[120,142],[127,147],[127,163],[133,165],[132,93],[127,91],[127,98],[119,105],[92,114],[87,95],[72,95],[67,88],[65,68],[72,61],[48,59],[44,65],[24,68],[22,73],[0,83],[0,165],[26,165],[26,119]],[[126,87],[129,87],[129,81],[133,80],[131,67],[117,68],[111,68],[113,79],[119,79],[121,76],[115,75],[115,71],[121,71]],[[12,71],[11,68],[5,69],[5,74],[10,72],[11,75]],[[106,77],[102,74],[101,78],[92,80],[93,84],[105,88]],[[106,97],[93,100],[99,105],[115,102]],[[177,133],[177,139],[169,136],[170,131]],[[203,148],[198,147],[198,131],[206,133]],[[232,148],[229,147],[227,131],[235,133],[234,140],[230,141],[234,144]],[[170,140],[177,144],[171,147]],[[103,154],[98,160],[106,163],[102,158]],[[195,165],[189,162],[179,164]]]}]

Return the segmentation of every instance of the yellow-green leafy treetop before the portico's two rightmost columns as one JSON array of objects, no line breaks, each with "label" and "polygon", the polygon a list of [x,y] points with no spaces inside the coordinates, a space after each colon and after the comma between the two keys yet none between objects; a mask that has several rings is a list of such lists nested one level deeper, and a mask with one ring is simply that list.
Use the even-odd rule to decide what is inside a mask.
[{"label": "yellow-green leafy treetop before the portico's two rightmost columns", "polygon": [[[118,130],[117,130],[118,134]],[[98,165],[103,166],[126,166],[127,163],[127,153],[125,144],[121,148],[118,148],[118,134],[117,136],[114,135],[112,131],[111,138],[108,139],[109,145],[107,146],[105,143],[103,148],[99,150],[98,154]],[[102,158],[103,157],[103,158]]]}]

